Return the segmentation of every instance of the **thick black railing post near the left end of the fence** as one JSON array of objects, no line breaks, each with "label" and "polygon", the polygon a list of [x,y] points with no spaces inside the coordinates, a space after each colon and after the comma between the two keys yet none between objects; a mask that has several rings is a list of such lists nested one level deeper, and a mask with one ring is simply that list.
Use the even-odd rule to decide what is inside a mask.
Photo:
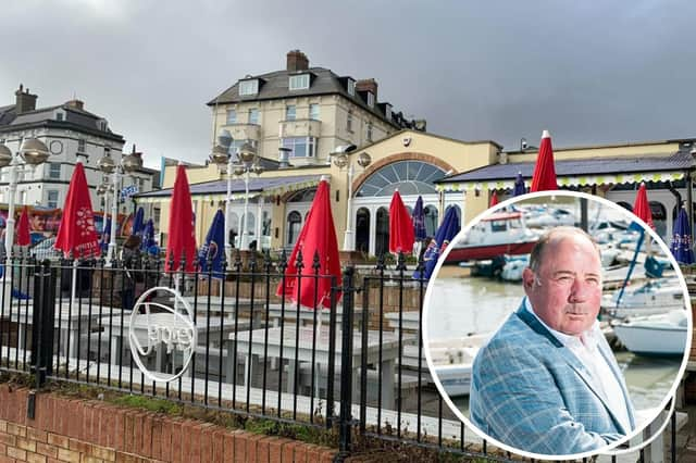
[{"label": "thick black railing post near the left end of the fence", "polygon": [[55,318],[55,268],[44,261],[34,273],[34,308],[32,314],[30,363],[36,375],[36,387],[53,374],[53,325]]}]

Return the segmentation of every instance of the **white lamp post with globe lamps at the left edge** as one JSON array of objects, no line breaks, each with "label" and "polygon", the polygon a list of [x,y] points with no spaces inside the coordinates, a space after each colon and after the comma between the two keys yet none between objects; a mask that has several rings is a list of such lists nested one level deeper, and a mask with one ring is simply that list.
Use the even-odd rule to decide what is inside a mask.
[{"label": "white lamp post with globe lamps at the left edge", "polygon": [[7,146],[0,143],[0,167],[10,166],[10,199],[8,201],[8,221],[4,235],[4,249],[8,253],[10,253],[14,245],[14,197],[17,192],[20,158],[24,160],[25,164],[36,168],[37,165],[46,162],[48,157],[48,147],[36,138],[24,140],[16,155],[12,155],[12,151],[10,151]]}]

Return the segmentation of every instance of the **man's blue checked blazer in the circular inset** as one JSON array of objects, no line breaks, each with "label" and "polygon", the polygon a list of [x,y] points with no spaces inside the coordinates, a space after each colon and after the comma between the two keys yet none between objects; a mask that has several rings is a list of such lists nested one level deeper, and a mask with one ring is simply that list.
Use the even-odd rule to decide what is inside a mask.
[{"label": "man's blue checked blazer in the circular inset", "polygon": [[[601,337],[598,349],[616,375],[635,427],[623,375]],[[612,402],[582,362],[524,306],[510,315],[474,360],[471,422],[517,449],[547,455],[593,451],[623,438]]]}]

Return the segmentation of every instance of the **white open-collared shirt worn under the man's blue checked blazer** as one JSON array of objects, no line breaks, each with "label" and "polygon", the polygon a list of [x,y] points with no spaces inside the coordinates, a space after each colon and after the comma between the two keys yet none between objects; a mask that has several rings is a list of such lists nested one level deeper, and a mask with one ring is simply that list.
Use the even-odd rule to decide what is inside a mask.
[{"label": "white open-collared shirt worn under the man's blue checked blazer", "polygon": [[604,392],[611,411],[617,415],[624,429],[632,429],[631,420],[629,418],[629,409],[623,397],[621,384],[597,347],[597,343],[599,342],[598,336],[604,336],[599,329],[599,322],[595,321],[593,326],[580,336],[571,336],[557,331],[544,323],[544,321],[539,318],[532,309],[532,303],[529,298],[524,298],[524,308],[527,312],[534,315],[560,343],[573,352],[585,368],[587,368],[595,385]]}]

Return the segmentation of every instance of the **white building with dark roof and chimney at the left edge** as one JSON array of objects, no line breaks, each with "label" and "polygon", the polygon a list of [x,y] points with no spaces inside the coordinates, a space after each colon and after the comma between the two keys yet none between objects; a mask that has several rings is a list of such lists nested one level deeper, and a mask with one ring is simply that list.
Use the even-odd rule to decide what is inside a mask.
[{"label": "white building with dark roof and chimney at the left edge", "polygon": [[[36,108],[37,95],[22,85],[15,91],[15,103],[0,107],[0,143],[17,152],[23,140],[37,138],[50,150],[49,160],[32,170],[21,168],[15,203],[48,209],[62,209],[67,195],[75,163],[79,159],[85,166],[87,184],[95,210],[103,208],[97,187],[103,174],[97,162],[103,155],[121,161],[123,136],[111,130],[105,117],[85,110],[85,103],[73,99],[65,103]],[[135,147],[133,148],[135,151]],[[0,170],[0,202],[9,202],[10,167]],[[135,185],[138,191],[150,191],[159,182],[159,172],[142,167],[132,176],[125,176],[122,187]],[[111,207],[109,207],[111,209]],[[133,204],[124,201],[120,213],[130,213]]]}]

